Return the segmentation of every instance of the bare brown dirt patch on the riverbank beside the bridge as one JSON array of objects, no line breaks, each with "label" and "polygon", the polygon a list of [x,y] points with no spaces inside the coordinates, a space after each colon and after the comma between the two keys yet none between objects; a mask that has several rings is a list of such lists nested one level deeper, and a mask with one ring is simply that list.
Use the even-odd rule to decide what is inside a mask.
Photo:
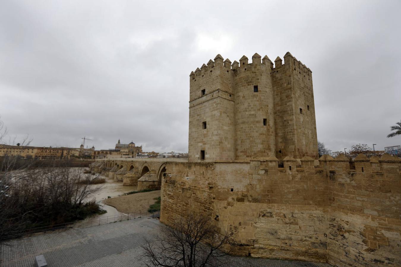
[{"label": "bare brown dirt patch on the riverbank beside the bridge", "polygon": [[156,202],[156,197],[160,197],[160,190],[114,197],[106,199],[105,203],[122,213],[140,213],[147,212],[149,206]]}]

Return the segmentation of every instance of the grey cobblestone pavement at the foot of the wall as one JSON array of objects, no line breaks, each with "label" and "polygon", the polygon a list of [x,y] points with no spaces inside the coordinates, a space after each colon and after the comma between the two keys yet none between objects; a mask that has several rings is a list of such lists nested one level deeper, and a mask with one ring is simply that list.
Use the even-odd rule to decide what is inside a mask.
[{"label": "grey cobblestone pavement at the foot of the wall", "polygon": [[[80,229],[38,234],[13,240],[2,246],[1,266],[34,266],[34,257],[43,254],[52,266],[144,266],[138,260],[144,238],[151,239],[165,227],[157,219],[142,217]],[[230,266],[314,267],[323,263],[280,261],[251,257],[227,257]]]}]

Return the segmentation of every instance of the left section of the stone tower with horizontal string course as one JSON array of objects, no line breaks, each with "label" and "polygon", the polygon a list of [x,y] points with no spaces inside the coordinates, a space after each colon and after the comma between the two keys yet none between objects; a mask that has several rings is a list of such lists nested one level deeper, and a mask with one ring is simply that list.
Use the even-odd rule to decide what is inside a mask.
[{"label": "left section of the stone tower with horizontal string course", "polygon": [[201,150],[203,161],[235,159],[233,75],[231,62],[223,62],[220,55],[191,72],[189,161],[201,161]]}]

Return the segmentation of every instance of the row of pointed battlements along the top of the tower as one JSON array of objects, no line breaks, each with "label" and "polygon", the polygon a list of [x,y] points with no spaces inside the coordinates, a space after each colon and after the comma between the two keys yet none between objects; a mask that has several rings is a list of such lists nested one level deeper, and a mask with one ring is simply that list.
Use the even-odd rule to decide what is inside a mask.
[{"label": "row of pointed battlements along the top of the tower", "polygon": [[[217,62],[216,62],[217,60]],[[284,55],[284,63],[283,60],[277,56],[277,58],[274,60],[274,64],[273,62],[269,59],[269,57],[267,55],[265,55],[263,58],[255,53],[252,56],[252,62],[249,62],[247,56],[243,55],[240,59],[239,62],[237,62],[236,60],[234,60],[234,62],[231,64],[231,61],[226,58],[224,60],[224,58],[220,55],[217,54],[217,56],[215,57],[215,61],[213,60],[209,60],[209,62],[207,62],[207,64],[203,64],[200,68],[200,70],[211,70],[215,65],[222,65],[225,68],[231,69],[231,70],[237,70],[239,67],[244,67],[246,68],[249,64],[264,64],[267,66],[270,66],[271,69],[274,68],[278,68],[283,66],[286,63],[290,63],[294,65],[295,70],[301,71],[302,73],[308,73],[308,75],[310,76],[310,73],[312,73],[312,71],[305,65],[302,64],[301,61],[298,61],[296,58],[294,58],[294,56],[292,56],[292,54],[290,52],[287,52]],[[198,68],[196,69],[198,70]],[[194,75],[196,76],[196,70],[195,72],[191,72],[190,76]],[[194,78],[194,76],[192,76]]]}]

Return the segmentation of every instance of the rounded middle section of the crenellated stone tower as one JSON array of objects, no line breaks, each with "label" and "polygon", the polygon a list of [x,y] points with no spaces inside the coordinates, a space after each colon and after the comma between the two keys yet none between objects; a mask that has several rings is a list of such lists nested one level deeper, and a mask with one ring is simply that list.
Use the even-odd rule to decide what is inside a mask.
[{"label": "rounded middle section of the crenellated stone tower", "polygon": [[[252,63],[243,56],[235,69],[235,159],[274,155],[274,104],[270,64],[255,54]],[[257,92],[254,92],[257,86]],[[265,120],[265,122],[263,122]],[[265,124],[265,125],[264,125]]]}]

